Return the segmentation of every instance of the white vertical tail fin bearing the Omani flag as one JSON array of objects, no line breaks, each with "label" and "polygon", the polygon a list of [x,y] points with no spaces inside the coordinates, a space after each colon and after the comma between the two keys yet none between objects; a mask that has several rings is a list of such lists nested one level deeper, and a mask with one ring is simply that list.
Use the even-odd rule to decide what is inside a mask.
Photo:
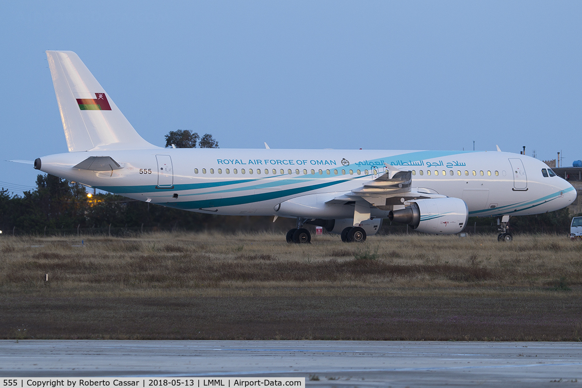
[{"label": "white vertical tail fin bearing the Omani flag", "polygon": [[69,152],[159,148],[145,141],[79,56],[47,51]]}]

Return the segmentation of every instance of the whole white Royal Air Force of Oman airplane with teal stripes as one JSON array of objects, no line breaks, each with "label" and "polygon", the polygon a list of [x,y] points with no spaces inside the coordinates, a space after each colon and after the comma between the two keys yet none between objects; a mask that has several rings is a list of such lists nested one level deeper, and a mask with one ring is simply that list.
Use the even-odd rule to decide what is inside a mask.
[{"label": "whole white Royal Air Force of Oman airplane with teal stripes", "polygon": [[555,211],[576,199],[545,163],[497,151],[162,148],[145,141],[77,54],[47,51],[69,152],[34,168],[87,187],[186,211],[294,218],[365,241],[382,219],[418,232],[462,232],[469,216]]}]

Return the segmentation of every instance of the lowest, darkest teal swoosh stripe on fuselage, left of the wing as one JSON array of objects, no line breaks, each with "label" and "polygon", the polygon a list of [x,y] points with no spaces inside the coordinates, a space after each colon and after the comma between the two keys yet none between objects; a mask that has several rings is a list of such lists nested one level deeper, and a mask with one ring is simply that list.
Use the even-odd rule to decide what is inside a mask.
[{"label": "lowest, darkest teal swoosh stripe on fuselage, left of the wing", "polygon": [[184,210],[200,208],[220,208],[225,206],[244,205],[250,204],[252,202],[274,200],[275,198],[287,197],[288,195],[306,193],[307,191],[318,190],[319,188],[330,187],[334,186],[335,184],[344,183],[347,181],[349,181],[349,179],[314,184],[313,186],[304,186],[288,188],[287,190],[271,191],[270,193],[242,195],[240,197],[230,197],[230,198],[215,198],[211,200],[200,200],[200,201],[165,202],[164,204],[159,205]]}]

